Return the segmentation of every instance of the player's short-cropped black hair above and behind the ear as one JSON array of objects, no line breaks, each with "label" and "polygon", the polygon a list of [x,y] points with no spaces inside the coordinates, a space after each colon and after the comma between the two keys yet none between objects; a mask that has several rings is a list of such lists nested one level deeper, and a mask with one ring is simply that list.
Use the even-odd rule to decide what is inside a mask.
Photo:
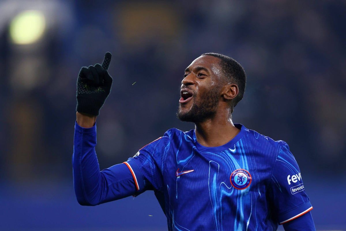
[{"label": "player's short-cropped black hair above and behind the ear", "polygon": [[223,54],[218,53],[204,53],[202,55],[211,55],[219,58],[221,69],[224,72],[224,75],[227,79],[227,82],[231,81],[238,86],[239,92],[238,95],[233,99],[232,112],[233,108],[238,104],[240,100],[244,97],[245,86],[246,86],[246,74],[245,70],[237,61]]}]

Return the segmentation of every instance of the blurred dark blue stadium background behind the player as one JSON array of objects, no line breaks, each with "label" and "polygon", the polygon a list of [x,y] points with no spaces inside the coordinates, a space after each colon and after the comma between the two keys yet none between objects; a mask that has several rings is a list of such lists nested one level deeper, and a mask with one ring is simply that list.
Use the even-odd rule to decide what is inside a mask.
[{"label": "blurred dark blue stadium background behind the player", "polygon": [[96,207],[75,199],[76,77],[107,51],[101,168],[171,127],[192,129],[175,117],[183,71],[226,54],[248,77],[234,122],[286,141],[317,230],[345,230],[345,26],[336,0],[1,0],[0,230],[167,230],[152,192]]}]

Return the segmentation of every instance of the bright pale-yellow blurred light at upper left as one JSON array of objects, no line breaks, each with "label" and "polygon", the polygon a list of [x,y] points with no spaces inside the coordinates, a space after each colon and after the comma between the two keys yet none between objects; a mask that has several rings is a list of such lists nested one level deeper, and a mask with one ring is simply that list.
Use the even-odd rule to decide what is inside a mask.
[{"label": "bright pale-yellow blurred light at upper left", "polygon": [[15,44],[30,44],[37,42],[44,34],[46,20],[42,12],[27,10],[12,19],[10,37]]}]

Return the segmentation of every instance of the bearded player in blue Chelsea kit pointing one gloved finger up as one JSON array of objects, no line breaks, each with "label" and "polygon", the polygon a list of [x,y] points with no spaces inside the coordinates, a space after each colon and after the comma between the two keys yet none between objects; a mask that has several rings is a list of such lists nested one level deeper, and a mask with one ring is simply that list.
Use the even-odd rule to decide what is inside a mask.
[{"label": "bearded player in blue Chelsea kit pointing one gloved finger up", "polygon": [[153,190],[169,230],[315,230],[297,162],[284,141],[232,122],[246,75],[234,59],[206,53],[186,69],[177,116],[195,124],[172,128],[126,162],[100,171],[96,117],[112,85],[111,54],[83,67],[77,80],[74,190],[81,205],[98,205]]}]

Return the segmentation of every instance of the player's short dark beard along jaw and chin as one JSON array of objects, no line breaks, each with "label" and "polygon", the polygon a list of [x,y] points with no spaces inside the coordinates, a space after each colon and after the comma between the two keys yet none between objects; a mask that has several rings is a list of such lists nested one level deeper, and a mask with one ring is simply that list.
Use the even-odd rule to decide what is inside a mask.
[{"label": "player's short dark beard along jaw and chin", "polygon": [[196,100],[195,95],[193,97],[193,103],[187,112],[182,112],[181,105],[178,107],[176,116],[184,122],[201,123],[208,118],[212,118],[217,109],[219,103],[219,89],[213,88],[208,94],[201,97],[200,100]]}]

